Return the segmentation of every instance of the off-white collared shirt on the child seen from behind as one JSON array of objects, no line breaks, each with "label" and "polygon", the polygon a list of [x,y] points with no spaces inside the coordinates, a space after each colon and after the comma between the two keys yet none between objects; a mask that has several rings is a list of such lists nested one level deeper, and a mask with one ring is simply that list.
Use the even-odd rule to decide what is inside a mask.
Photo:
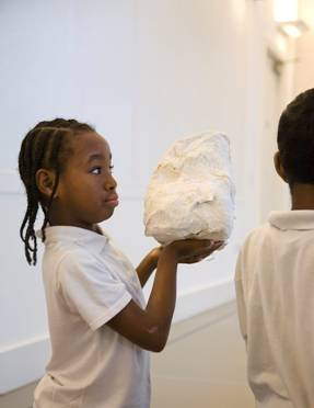
[{"label": "off-white collared shirt on the child seen from behind", "polygon": [[237,260],[240,326],[257,407],[314,407],[314,211],[275,212]]}]

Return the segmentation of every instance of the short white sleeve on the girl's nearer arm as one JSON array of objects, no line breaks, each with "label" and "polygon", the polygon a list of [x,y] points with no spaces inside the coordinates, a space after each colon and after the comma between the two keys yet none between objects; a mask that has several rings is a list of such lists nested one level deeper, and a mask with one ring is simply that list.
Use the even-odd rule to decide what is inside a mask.
[{"label": "short white sleeve on the girl's nearer arm", "polygon": [[130,301],[124,282],[89,253],[66,256],[58,268],[59,290],[72,311],[96,330]]}]

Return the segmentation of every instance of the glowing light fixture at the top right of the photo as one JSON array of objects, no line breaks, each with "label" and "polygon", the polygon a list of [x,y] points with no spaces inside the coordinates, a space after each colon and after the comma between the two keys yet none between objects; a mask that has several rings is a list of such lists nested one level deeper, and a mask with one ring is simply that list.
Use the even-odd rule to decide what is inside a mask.
[{"label": "glowing light fixture at the top right of the photo", "polygon": [[298,0],[275,0],[274,19],[278,29],[289,37],[296,38],[309,30],[304,21],[299,18]]}]

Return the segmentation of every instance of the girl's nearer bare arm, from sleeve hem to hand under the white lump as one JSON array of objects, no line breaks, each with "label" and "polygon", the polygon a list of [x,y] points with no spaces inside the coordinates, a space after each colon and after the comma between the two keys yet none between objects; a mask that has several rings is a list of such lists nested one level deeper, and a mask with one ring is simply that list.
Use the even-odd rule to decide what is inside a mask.
[{"label": "girl's nearer bare arm, from sleeve hem to hand under the white lump", "polygon": [[150,351],[162,351],[166,344],[176,301],[177,263],[190,263],[209,256],[221,242],[183,240],[164,247],[160,253],[153,287],[146,309],[133,301],[107,325],[131,342]]}]

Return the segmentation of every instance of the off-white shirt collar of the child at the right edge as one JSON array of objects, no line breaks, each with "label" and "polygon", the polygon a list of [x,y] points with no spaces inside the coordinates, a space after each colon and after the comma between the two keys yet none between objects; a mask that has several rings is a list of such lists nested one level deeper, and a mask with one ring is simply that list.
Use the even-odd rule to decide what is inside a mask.
[{"label": "off-white shirt collar of the child at the right edge", "polygon": [[275,227],[288,229],[314,229],[313,209],[276,211],[269,214],[269,223]]}]

